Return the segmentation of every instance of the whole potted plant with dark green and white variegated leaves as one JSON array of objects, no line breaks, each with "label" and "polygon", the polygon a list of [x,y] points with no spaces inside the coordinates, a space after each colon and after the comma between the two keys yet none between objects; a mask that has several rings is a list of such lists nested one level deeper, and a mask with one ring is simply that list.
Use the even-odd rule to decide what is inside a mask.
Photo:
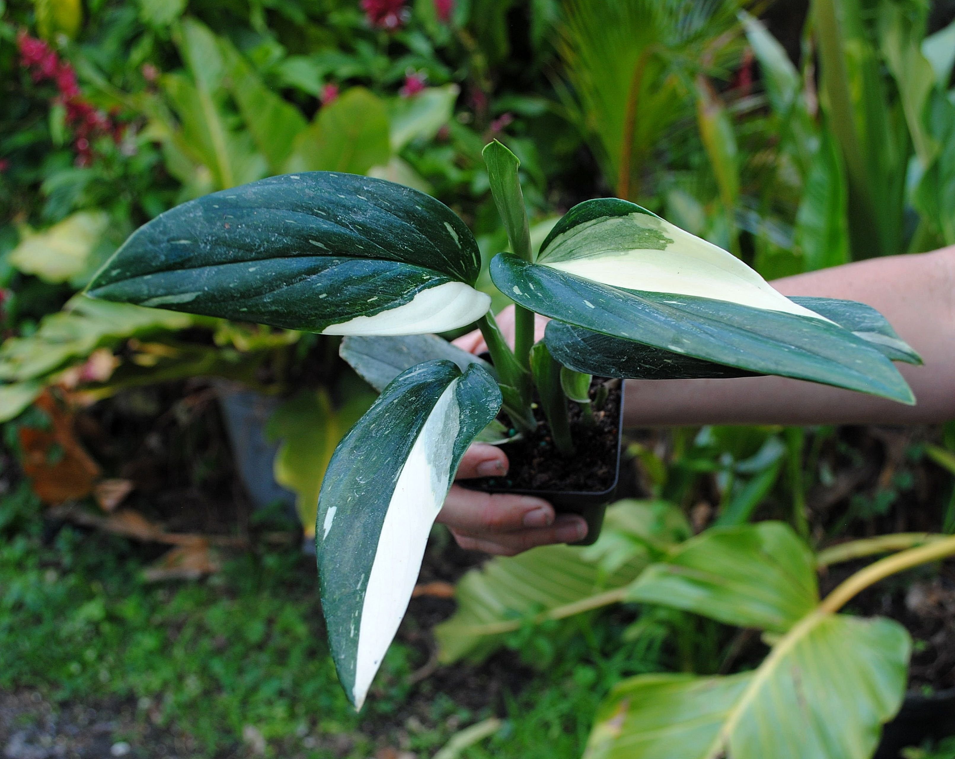
[{"label": "whole potted plant with dark green and white variegated leaves", "polygon": [[[513,251],[496,256],[490,271],[517,304],[514,349],[475,287],[477,242],[455,213],[416,190],[347,174],[273,177],[184,203],[140,228],[88,290],[365,336],[347,339],[343,355],[383,391],[334,453],[316,525],[331,651],[359,707],[407,608],[462,453],[482,431],[500,429],[501,407],[513,427],[532,428],[535,385],[552,396],[541,397],[551,413],[566,409],[555,394],[583,400],[587,378],[575,371],[779,374],[914,402],[892,361],[918,356],[876,311],[785,298],[730,253],[640,206],[581,203],[535,258],[518,160],[498,142],[485,158]],[[534,312],[554,320],[537,346]],[[435,337],[380,337],[475,323],[493,368]],[[564,367],[557,374],[555,361]],[[535,372],[548,381],[536,382]],[[571,439],[556,442],[572,450]]]}]

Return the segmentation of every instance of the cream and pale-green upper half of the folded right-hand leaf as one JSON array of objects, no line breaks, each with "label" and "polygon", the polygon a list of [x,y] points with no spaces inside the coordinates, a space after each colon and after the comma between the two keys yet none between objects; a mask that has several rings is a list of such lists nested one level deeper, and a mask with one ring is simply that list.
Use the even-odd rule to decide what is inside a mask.
[{"label": "cream and pale-green upper half of the folded right-hand leaf", "polygon": [[732,253],[645,213],[577,224],[554,238],[538,264],[613,287],[823,319],[777,292]]}]

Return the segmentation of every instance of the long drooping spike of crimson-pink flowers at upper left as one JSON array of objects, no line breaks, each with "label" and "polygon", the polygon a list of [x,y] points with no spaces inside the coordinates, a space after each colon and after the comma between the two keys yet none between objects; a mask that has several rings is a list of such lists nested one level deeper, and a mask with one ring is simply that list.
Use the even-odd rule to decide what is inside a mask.
[{"label": "long drooping spike of crimson-pink flowers at upper left", "polygon": [[122,139],[125,126],[114,123],[109,116],[83,99],[72,65],[60,60],[42,39],[31,37],[26,32],[20,32],[16,42],[20,51],[20,62],[30,69],[33,81],[52,81],[59,91],[53,102],[66,109],[66,123],[73,127],[77,165],[86,166],[93,160],[90,141],[94,137],[109,135],[117,142]]}]

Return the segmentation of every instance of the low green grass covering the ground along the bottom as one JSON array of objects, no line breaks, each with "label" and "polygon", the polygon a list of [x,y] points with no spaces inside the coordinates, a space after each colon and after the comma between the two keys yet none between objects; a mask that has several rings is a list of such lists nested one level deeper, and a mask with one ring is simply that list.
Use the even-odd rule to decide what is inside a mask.
[{"label": "low green grass covering the ground along the bottom", "polygon": [[[246,726],[270,755],[357,759],[400,746],[432,756],[499,708],[503,727],[461,757],[571,759],[609,686],[657,666],[621,646],[624,622],[523,629],[509,645],[536,674],[505,686],[497,706],[467,708],[456,698],[468,694],[444,692],[439,677],[412,685],[420,652],[395,643],[356,715],[329,658],[313,565],[297,551],[248,552],[207,580],[147,583],[155,557],[141,544],[54,530],[40,510],[25,484],[0,498],[0,688],[125,700],[138,719],[191,736],[197,756],[234,754]],[[317,745],[303,748],[306,735]]]}]

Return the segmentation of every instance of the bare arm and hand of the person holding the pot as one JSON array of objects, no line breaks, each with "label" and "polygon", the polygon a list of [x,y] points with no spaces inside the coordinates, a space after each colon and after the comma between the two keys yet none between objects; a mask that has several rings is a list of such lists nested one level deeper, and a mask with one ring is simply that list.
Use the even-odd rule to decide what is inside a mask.
[{"label": "bare arm and hand of the person holding the pot", "polygon": [[[923,366],[897,365],[917,398],[903,406],[850,390],[785,377],[700,380],[627,380],[626,427],[701,424],[931,424],[955,418],[955,245],[931,253],[890,256],[775,280],[784,295],[841,298],[879,310],[923,358]],[[538,317],[543,335],[547,320]],[[513,309],[498,317],[514,331]],[[479,332],[455,341],[485,349]],[[504,474],[507,455],[472,446],[457,479]],[[580,517],[555,517],[540,498],[488,495],[454,486],[437,520],[465,549],[511,556],[537,545],[583,538]]]}]

